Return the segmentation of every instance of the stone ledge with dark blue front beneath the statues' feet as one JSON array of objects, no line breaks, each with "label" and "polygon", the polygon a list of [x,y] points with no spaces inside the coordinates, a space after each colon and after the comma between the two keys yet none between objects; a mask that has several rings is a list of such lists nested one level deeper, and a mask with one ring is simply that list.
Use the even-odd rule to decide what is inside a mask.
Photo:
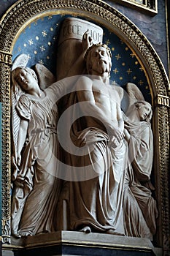
[{"label": "stone ledge with dark blue front beneath the statues' feet", "polygon": [[161,256],[147,238],[131,238],[101,233],[58,231],[27,238],[12,238],[4,245],[2,256]]}]

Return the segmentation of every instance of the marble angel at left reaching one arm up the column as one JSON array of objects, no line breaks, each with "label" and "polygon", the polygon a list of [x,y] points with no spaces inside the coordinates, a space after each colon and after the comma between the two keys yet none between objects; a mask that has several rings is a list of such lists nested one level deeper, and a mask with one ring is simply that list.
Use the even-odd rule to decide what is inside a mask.
[{"label": "marble angel at left reaching one arm up the column", "polygon": [[[72,66],[80,65],[91,45],[82,37],[82,54]],[[36,64],[26,67],[20,55],[12,66],[12,236],[33,236],[57,230],[55,212],[62,182],[58,177],[58,100],[72,86],[55,82],[50,71]],[[36,75],[37,74],[37,75]],[[38,78],[37,78],[38,76]],[[50,85],[51,84],[51,85]]]}]

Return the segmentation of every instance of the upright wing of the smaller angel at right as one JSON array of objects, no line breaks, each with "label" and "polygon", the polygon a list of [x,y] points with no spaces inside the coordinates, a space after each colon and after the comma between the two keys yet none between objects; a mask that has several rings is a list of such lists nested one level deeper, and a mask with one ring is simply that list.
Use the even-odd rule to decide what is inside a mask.
[{"label": "upright wing of the smaller angel at right", "polygon": [[137,100],[144,100],[142,91],[134,83],[127,83],[126,90],[129,96],[129,107],[134,104]]}]

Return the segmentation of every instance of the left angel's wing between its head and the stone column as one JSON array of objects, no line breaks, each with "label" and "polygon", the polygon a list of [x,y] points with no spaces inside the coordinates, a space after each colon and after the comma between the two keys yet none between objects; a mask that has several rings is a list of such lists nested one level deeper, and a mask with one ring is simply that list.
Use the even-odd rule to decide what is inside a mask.
[{"label": "left angel's wing between its head and the stone column", "polygon": [[56,82],[56,78],[53,73],[50,72],[50,70],[47,69],[47,67],[45,67],[43,64],[35,64],[34,71],[36,72],[37,78],[39,80],[39,87],[42,90]]}]

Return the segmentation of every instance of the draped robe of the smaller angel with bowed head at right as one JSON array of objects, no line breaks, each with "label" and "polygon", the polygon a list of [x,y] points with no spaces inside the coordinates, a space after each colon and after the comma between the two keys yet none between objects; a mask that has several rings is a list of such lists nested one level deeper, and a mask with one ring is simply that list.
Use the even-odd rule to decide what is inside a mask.
[{"label": "draped robe of the smaller angel with bowed head at right", "polygon": [[126,117],[125,129],[131,134],[123,200],[125,234],[152,240],[158,217],[152,187],[148,187],[153,159],[152,129],[147,121],[131,122]]}]

